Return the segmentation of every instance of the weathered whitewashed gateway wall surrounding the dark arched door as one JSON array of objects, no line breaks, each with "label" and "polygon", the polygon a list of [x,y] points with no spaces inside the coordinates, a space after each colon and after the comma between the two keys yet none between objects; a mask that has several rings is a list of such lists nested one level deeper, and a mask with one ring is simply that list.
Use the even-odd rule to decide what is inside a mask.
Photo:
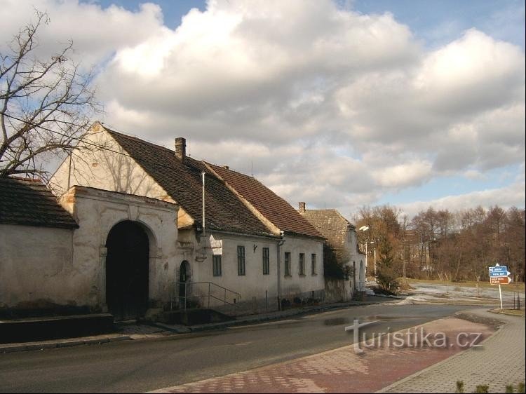
[{"label": "weathered whitewashed gateway wall surrounding the dark arched door", "polygon": [[149,238],[150,306],[170,302],[177,264],[177,205],[83,186],[70,189],[61,203],[80,225],[72,237],[74,276],[83,284],[78,299],[105,309],[107,236],[115,224],[131,220]]}]

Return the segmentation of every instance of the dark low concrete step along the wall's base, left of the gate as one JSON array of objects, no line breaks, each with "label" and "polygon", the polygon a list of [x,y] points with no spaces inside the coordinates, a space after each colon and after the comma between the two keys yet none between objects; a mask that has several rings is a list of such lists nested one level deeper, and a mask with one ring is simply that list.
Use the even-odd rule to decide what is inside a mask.
[{"label": "dark low concrete step along the wall's base, left of the gate", "polygon": [[0,320],[0,344],[86,337],[115,332],[109,313]]}]

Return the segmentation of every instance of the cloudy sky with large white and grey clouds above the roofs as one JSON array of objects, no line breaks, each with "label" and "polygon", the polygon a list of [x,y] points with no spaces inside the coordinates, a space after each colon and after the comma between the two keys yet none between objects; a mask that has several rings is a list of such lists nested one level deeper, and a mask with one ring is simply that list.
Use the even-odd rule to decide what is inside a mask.
[{"label": "cloudy sky with large white and grey clouds above the roofs", "polygon": [[109,128],[254,175],[297,208],[525,207],[525,3],[0,0],[46,11]]}]

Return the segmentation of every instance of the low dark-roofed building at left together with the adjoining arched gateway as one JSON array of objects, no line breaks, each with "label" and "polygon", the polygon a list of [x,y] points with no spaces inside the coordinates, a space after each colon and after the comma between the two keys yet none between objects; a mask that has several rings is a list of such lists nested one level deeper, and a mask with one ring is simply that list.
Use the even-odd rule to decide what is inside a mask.
[{"label": "low dark-roofed building at left together with the adjoining arched gateway", "polygon": [[0,309],[122,319],[170,301],[176,204],[83,186],[60,202],[41,182],[0,179]]}]

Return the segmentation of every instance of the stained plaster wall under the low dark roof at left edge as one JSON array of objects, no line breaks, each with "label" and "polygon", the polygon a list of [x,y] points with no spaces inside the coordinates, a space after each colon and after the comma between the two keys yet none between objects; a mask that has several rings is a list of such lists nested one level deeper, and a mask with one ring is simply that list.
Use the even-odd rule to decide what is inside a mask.
[{"label": "stained plaster wall under the low dark roof at left edge", "polygon": [[90,284],[72,263],[73,232],[0,224],[0,308],[86,303]]}]

